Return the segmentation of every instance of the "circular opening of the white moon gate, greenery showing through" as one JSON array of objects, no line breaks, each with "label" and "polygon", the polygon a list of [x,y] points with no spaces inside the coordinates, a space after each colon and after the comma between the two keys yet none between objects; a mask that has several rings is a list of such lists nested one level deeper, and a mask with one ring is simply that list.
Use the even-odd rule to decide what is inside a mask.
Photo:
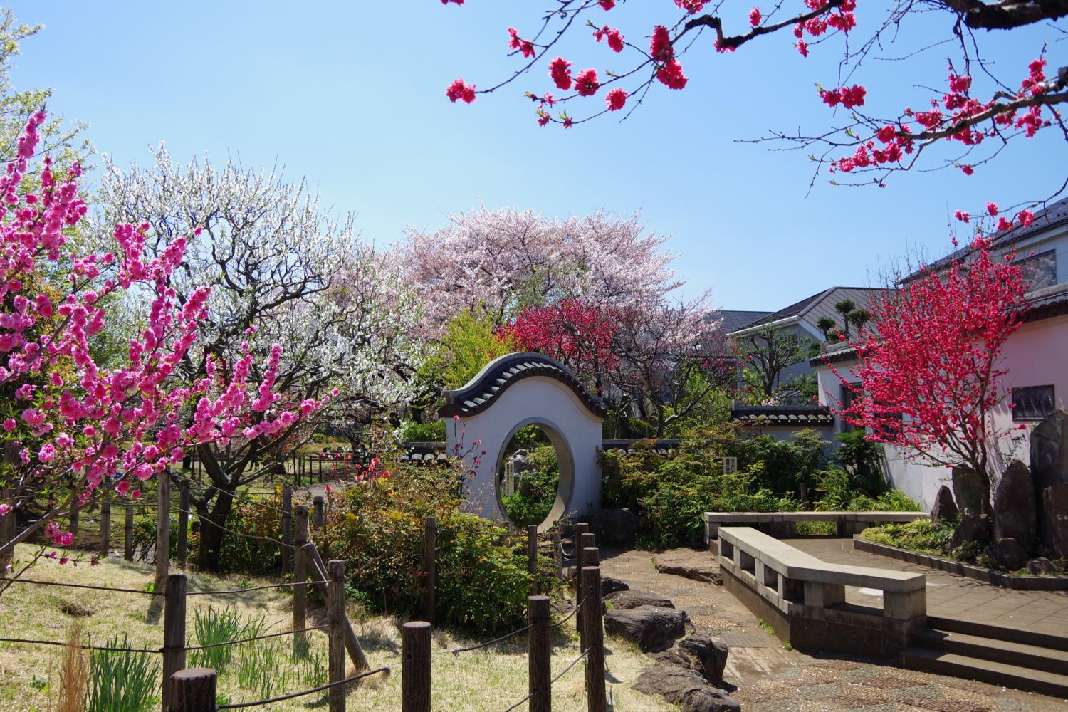
[{"label": "circular opening of the white moon gate, greenery showing through", "polygon": [[519,528],[548,529],[564,515],[572,470],[570,448],[554,428],[543,423],[517,427],[498,459],[501,511]]}]

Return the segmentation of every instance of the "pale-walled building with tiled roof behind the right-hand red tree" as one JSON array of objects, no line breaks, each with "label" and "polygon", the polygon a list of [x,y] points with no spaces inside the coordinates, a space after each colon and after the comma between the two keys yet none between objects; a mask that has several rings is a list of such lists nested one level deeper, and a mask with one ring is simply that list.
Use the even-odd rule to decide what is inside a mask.
[{"label": "pale-walled building with tiled roof behind the right-hand red tree", "polygon": [[[1004,257],[1012,250],[1016,262],[1026,269],[1031,290],[1020,310],[1022,326],[1009,336],[1003,349],[1002,367],[1008,371],[1003,379],[1006,397],[992,418],[998,430],[1020,425],[1030,430],[1068,402],[1068,199],[1037,213],[1027,227],[994,238],[993,254]],[[958,250],[932,263],[930,268],[944,269],[955,260],[967,260],[970,253],[971,249]],[[902,283],[916,276],[912,274]],[[855,352],[845,343],[824,345],[820,355],[810,361],[817,374],[821,405],[833,410],[848,397],[848,390],[830,366],[834,365],[849,378],[850,366],[855,364]],[[835,418],[835,432],[848,427]],[[991,466],[1000,473],[1011,459],[1030,460],[1028,438],[1000,443],[996,450],[991,453]],[[885,453],[892,485],[925,509],[933,505],[939,487],[951,482],[951,472],[944,466],[922,464],[891,445],[885,446]]]}]

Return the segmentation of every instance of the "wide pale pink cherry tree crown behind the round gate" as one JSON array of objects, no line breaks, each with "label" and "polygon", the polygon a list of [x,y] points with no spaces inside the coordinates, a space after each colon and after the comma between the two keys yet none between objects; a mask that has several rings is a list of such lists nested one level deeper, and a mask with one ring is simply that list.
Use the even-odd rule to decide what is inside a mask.
[{"label": "wide pale pink cherry tree crown behind the round gate", "polygon": [[504,325],[528,306],[623,304],[680,284],[669,268],[674,255],[661,250],[666,237],[645,233],[637,215],[560,220],[482,208],[449,220],[433,233],[410,228],[397,246],[429,336],[441,336],[464,310]]}]

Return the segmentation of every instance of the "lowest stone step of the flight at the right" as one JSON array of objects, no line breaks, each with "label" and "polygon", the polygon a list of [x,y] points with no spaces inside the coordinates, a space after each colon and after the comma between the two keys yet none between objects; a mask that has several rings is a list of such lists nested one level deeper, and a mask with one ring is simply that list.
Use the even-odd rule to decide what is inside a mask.
[{"label": "lowest stone step of the flight at the right", "polygon": [[901,665],[913,670],[951,675],[1003,687],[1036,692],[1062,699],[1068,698],[1068,675],[916,647],[901,651]]}]

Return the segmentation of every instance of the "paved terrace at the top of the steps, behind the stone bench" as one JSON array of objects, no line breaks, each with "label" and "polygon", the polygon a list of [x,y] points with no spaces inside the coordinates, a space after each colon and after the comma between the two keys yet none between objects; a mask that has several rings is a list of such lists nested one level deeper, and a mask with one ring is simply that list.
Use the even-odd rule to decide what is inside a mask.
[{"label": "paved terrace at the top of the steps, behind the stone bench", "polygon": [[[824,561],[911,571],[927,576],[927,613],[1004,628],[1068,635],[1068,591],[1022,591],[853,549],[852,539],[784,539]],[[846,588],[846,600],[881,607],[881,591]]]}]

